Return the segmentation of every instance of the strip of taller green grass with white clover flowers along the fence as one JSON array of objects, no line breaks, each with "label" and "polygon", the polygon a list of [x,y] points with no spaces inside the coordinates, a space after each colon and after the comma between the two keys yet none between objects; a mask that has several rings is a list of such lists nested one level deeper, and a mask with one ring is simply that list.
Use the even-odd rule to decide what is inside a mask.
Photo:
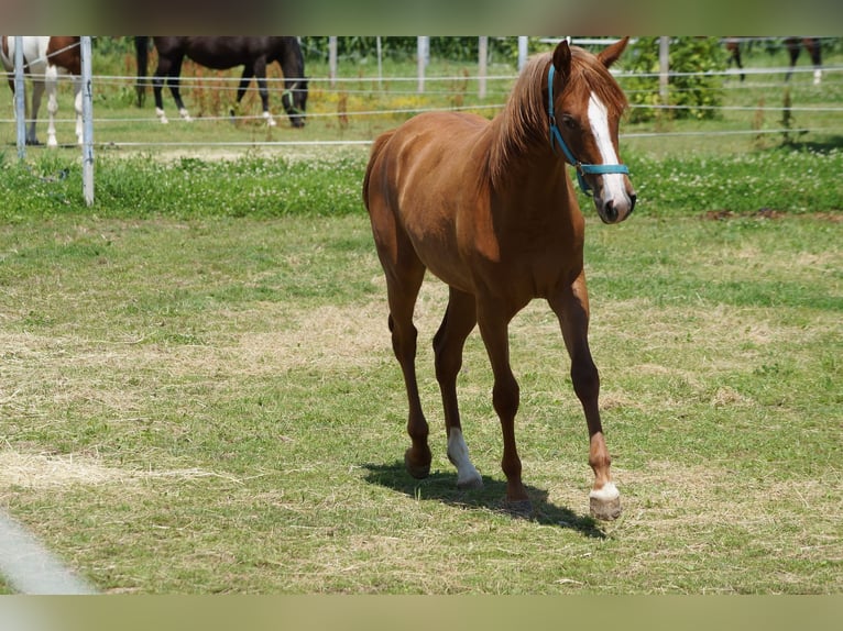
[{"label": "strip of taller green grass with white clover flowers along the fence", "polygon": [[[347,215],[362,211],[368,151],[350,147],[316,158],[247,154],[229,159],[149,155],[105,157],[97,165],[92,209],[72,155],[42,154],[0,164],[0,217],[22,221],[68,212],[102,217]],[[627,154],[638,214],[681,217],[707,211],[824,212],[841,209],[836,175],[843,152],[762,150],[742,156],[656,158]],[[775,181],[775,186],[770,186]],[[583,207],[590,203],[583,196]]]}]

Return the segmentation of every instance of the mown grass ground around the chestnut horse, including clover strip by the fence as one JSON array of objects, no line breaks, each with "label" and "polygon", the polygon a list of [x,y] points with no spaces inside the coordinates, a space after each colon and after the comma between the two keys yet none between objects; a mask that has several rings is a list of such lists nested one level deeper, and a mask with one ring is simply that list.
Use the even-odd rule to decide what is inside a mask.
[{"label": "mown grass ground around the chestnut horse, including clover strip by the fence", "polygon": [[840,594],[840,137],[664,143],[622,146],[629,221],[602,225],[583,199],[611,523],[588,517],[585,424],[538,302],[511,329],[534,519],[501,510],[477,333],[459,387],[485,487],[456,489],[433,279],[417,308],[433,473],[405,473],[364,147],[103,146],[90,209],[76,150],[19,165],[8,148],[0,507],[111,594]]}]

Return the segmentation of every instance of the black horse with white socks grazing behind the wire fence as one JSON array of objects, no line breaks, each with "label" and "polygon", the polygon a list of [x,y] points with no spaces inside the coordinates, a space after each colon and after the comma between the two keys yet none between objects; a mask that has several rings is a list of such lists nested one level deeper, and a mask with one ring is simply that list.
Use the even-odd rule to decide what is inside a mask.
[{"label": "black horse with white socks grazing behind the wire fence", "polygon": [[[158,52],[158,66],[152,86],[155,95],[155,113],[162,123],[168,122],[161,96],[165,78],[176,101],[178,113],[183,119],[191,120],[182,101],[179,89],[182,63],[185,57],[188,57],[201,66],[217,70],[243,66],[243,75],[237,90],[237,102],[240,104],[252,77],[255,77],[263,104],[263,118],[270,126],[275,125],[275,119],[270,113],[266,66],[277,62],[284,74],[284,93],[281,96],[284,111],[287,112],[294,128],[305,125],[307,79],[305,78],[305,58],[296,37],[153,37],[153,42]],[[149,56],[147,37],[135,37],[134,43],[138,56],[138,103],[142,104]]]}]

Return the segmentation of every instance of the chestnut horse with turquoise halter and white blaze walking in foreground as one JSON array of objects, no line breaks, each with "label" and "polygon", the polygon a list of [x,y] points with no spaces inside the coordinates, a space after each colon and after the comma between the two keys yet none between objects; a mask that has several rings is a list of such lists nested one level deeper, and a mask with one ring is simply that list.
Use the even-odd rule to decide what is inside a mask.
[{"label": "chestnut horse with turquoise halter and white blaze walking in foreground", "polygon": [[430,469],[413,324],[429,269],[450,287],[434,350],[457,486],[482,486],[462,435],[456,387],[464,341],[479,324],[503,430],[507,506],[519,514],[533,509],[515,446],[518,384],[510,367],[507,328],[534,298],[546,299],[556,312],[571,357],[595,476],[591,512],[599,519],[621,512],[598,407],[600,379],[588,342],[583,218],[566,160],[577,166],[580,186],[592,193],[605,223],[629,215],[635,193],[617,157],[618,119],[627,103],[607,71],[626,43],[621,40],[594,56],[562,42],[552,54],[532,59],[491,122],[451,112],[410,119],[375,141],[363,182],[386,275],[393,350],[409,402],[407,469],[417,478]]}]

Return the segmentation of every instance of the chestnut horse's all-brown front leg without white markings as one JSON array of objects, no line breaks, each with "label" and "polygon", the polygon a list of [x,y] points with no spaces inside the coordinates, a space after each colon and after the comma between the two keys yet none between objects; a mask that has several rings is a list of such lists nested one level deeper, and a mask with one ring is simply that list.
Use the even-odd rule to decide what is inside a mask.
[{"label": "chestnut horse's all-brown front leg without white markings", "polygon": [[521,391],[510,366],[511,319],[512,312],[503,305],[489,299],[479,301],[478,324],[494,375],[492,405],[501,420],[503,433],[501,468],[506,476],[506,505],[513,513],[528,517],[533,513],[533,505],[521,480],[521,458],[515,445],[515,414],[518,412]]}]

